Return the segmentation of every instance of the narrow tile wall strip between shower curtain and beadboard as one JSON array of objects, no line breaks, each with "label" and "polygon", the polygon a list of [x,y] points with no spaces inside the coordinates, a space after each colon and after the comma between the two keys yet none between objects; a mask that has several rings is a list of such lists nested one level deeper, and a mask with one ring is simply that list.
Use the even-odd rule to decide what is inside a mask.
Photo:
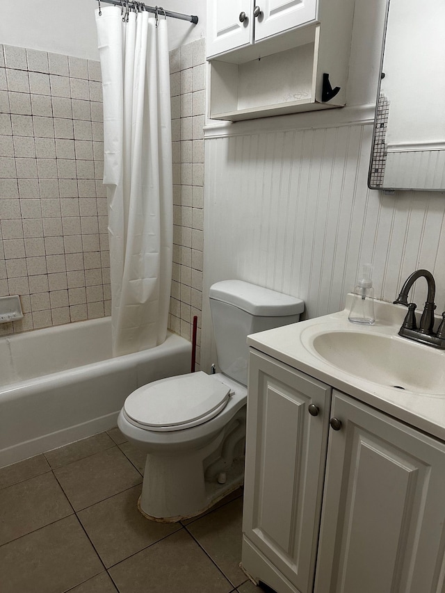
[{"label": "narrow tile wall strip between shower curtain and beadboard", "polygon": [[174,192],[170,329],[191,339],[198,318],[200,363],[204,206],[205,40],[170,52]]}]

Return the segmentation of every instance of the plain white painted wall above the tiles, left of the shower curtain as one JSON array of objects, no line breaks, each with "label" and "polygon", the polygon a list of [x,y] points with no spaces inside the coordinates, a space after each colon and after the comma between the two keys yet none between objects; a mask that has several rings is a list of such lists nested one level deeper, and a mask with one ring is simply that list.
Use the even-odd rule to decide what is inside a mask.
[{"label": "plain white painted wall above the tiles, left of the shower curtain", "polygon": [[98,60],[95,0],[1,0],[0,42]]}]

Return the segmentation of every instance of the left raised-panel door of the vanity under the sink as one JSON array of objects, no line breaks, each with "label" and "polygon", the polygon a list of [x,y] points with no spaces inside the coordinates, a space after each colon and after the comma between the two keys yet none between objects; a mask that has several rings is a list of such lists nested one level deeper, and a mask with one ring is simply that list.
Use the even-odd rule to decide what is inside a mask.
[{"label": "left raised-panel door of the vanity under the sink", "polygon": [[[331,388],[252,350],[249,369],[243,532],[259,557],[312,592]],[[260,564],[243,554],[251,576],[268,583]]]}]

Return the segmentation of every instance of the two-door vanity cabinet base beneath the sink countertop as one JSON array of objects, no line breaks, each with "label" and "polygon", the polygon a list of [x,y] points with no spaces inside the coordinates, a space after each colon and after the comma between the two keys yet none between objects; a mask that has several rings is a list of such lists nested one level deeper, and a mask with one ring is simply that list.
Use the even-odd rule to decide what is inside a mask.
[{"label": "two-door vanity cabinet base beneath the sink countertop", "polygon": [[445,591],[445,444],[257,350],[249,381],[248,574],[277,593]]}]

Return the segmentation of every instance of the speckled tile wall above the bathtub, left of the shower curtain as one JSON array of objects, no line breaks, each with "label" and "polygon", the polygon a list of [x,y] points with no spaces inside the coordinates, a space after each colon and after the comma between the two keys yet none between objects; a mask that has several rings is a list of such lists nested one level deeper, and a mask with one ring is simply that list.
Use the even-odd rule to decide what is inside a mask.
[{"label": "speckled tile wall above the bathtub, left of the shower curtain", "polygon": [[0,335],[110,314],[99,62],[0,45]]}]

